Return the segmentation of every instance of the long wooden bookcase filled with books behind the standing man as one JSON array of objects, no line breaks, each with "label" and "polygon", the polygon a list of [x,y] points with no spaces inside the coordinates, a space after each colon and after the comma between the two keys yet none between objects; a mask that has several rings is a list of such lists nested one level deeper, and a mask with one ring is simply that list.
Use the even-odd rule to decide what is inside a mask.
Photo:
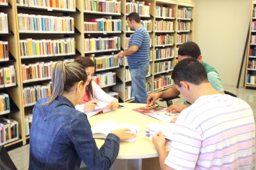
[{"label": "long wooden bookcase filled with books behind the standing man", "polygon": [[[16,144],[26,145],[26,143],[28,143],[28,122],[31,119],[31,115],[28,114],[32,113],[37,98],[34,97],[28,102],[24,96],[35,93],[34,91],[31,92],[31,87],[33,87],[32,89],[34,90],[39,90],[39,87],[36,85],[43,86],[51,80],[51,76],[49,76],[51,74],[51,67],[54,62],[58,60],[75,59],[78,56],[92,57],[95,63],[97,62],[96,67],[99,66],[97,67],[95,74],[100,76],[100,74],[111,72],[116,76],[115,83],[102,85],[102,89],[105,92],[118,92],[120,103],[132,103],[134,101],[132,97],[129,99],[125,98],[125,89],[126,87],[131,86],[131,80],[127,79],[127,77],[125,78],[127,69],[129,69],[126,60],[123,60],[122,66],[118,66],[118,64],[108,65],[109,62],[107,61],[107,59],[115,60],[115,55],[118,52],[126,50],[125,44],[132,34],[132,31],[129,31],[126,25],[126,17],[131,11],[126,11],[126,7],[127,3],[129,5],[134,5],[132,4],[132,1],[112,1],[112,11],[105,8],[106,6],[112,5],[110,1],[106,1],[104,7],[99,7],[99,4],[93,4],[94,7],[92,9],[90,8],[90,0],[68,0],[67,2],[69,4],[67,6],[65,4],[54,4],[54,1],[52,1],[52,4],[49,4],[50,7],[45,6],[45,4],[26,4],[25,2],[33,3],[34,1],[9,0],[7,4],[0,4],[1,12],[8,13],[10,21],[10,32],[0,32],[0,41],[8,41],[10,59],[0,61],[0,66],[12,65],[15,68],[17,82],[17,85],[15,86],[0,88],[0,92],[6,92],[10,96],[10,113],[5,113],[4,115],[0,115],[0,117],[12,118],[19,122],[20,137],[11,143],[6,143],[5,146],[15,146]],[[99,3],[99,1],[92,2]],[[100,3],[104,2],[100,1]],[[145,0],[136,1],[134,3],[136,3],[136,8],[139,8],[138,6],[140,6],[140,9],[144,9],[140,11],[140,16],[143,25],[148,27],[151,39],[150,71],[146,78],[148,94],[151,94],[168,89],[172,86],[170,76],[172,75],[173,66],[175,66],[175,63],[177,62],[177,50],[179,45],[184,41],[193,39],[193,20],[195,18],[193,11],[195,10],[195,4],[172,0]],[[71,10],[67,9],[68,6]],[[95,8],[95,6],[97,6],[97,8]],[[172,16],[167,15],[169,13],[167,9],[171,8],[173,9]],[[191,11],[191,17],[178,17],[179,8],[189,9]],[[99,9],[105,11],[98,11]],[[129,8],[129,10],[131,9],[133,8]],[[165,11],[161,13],[163,10]],[[36,27],[36,24],[38,23],[35,22],[38,18],[35,16],[40,16],[41,18],[44,18],[45,21],[49,21],[49,18],[57,18],[58,20],[61,20],[61,23],[63,24],[74,24],[74,27],[73,29],[72,27],[70,27],[70,29],[65,27],[65,29],[60,31],[59,27],[57,27],[58,29],[53,29],[53,27],[50,27],[51,24],[47,25],[45,22],[45,29],[38,30],[38,27]],[[24,19],[22,20],[22,17],[27,17],[29,19],[26,19],[27,22],[25,22]],[[72,21],[70,21],[70,19]],[[104,30],[95,31],[95,25],[90,23],[94,22],[95,19],[99,19],[100,22],[106,22],[106,25],[108,22],[108,25],[113,25],[116,29],[113,29],[112,27],[111,30],[104,28]],[[29,27],[29,22],[31,23],[31,27]],[[35,25],[33,24],[34,22],[36,23]],[[178,27],[179,22],[182,29],[179,29]],[[116,25],[118,26],[116,27]],[[156,26],[158,27],[156,28]],[[186,37],[188,34],[189,38],[188,36]],[[94,46],[89,45],[88,40],[86,40],[88,38],[90,38],[90,41],[95,41]],[[178,38],[182,41],[178,42]],[[60,39],[69,40],[64,41],[63,43],[63,40]],[[97,46],[96,42],[98,41],[117,45],[113,45],[111,48],[102,49]],[[56,46],[59,45],[59,47],[56,47],[59,51],[57,50],[57,52],[53,51],[51,53],[51,50],[47,47],[49,45],[54,46],[54,43]],[[28,48],[24,48],[25,45],[27,45]],[[38,45],[38,47],[36,47],[36,45]],[[43,46],[46,48],[43,48]],[[67,50],[71,49],[70,46],[73,46],[74,48],[72,48],[72,50]],[[88,48],[88,46],[90,46],[90,48]],[[34,47],[35,50],[31,50],[34,49]],[[43,62],[44,64],[42,64]],[[107,62],[108,64],[106,67],[100,66],[100,64],[106,64]],[[156,72],[155,65],[160,63],[166,64],[168,69],[159,69]],[[41,68],[43,66],[47,71],[44,73],[42,72],[42,75],[47,76],[41,76],[41,72],[40,74],[38,74],[39,72],[35,72],[40,75],[35,76],[33,70],[36,67]],[[32,72],[30,74],[30,72],[26,73],[26,71]],[[30,78],[27,76],[30,76]],[[157,85],[157,83],[161,82],[161,78],[163,79],[163,77],[166,77],[166,85]],[[48,91],[46,90],[45,92]],[[24,124],[24,122],[26,122],[26,124]]]}]

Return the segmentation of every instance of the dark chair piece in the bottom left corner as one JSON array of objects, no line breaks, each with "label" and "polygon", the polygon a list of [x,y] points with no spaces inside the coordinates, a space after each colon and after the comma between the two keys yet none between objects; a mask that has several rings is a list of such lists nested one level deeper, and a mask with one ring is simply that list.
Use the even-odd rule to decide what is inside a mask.
[{"label": "dark chair piece in the bottom left corner", "polygon": [[17,170],[4,146],[0,146],[0,168],[3,170]]}]

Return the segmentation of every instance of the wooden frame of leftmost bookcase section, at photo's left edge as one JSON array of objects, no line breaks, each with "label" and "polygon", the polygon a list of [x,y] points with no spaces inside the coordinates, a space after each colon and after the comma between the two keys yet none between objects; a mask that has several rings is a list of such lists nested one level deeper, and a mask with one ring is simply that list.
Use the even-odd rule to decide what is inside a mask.
[{"label": "wooden frame of leftmost bookcase section, at photo's left edge", "polygon": [[[9,60],[2,59],[0,61],[0,67],[6,67],[6,66],[13,66],[15,69],[15,81],[16,85],[4,85],[4,87],[0,88],[0,92],[8,94],[9,100],[10,100],[10,113],[1,113],[0,118],[8,118],[13,119],[17,122],[19,122],[19,132],[18,132],[18,139],[10,139],[6,143],[2,143],[1,145],[4,145],[5,147],[20,144],[25,145],[24,141],[24,117],[22,114],[22,97],[20,94],[22,94],[20,89],[20,75],[19,75],[19,53],[17,51],[17,25],[15,24],[16,21],[16,9],[15,9],[15,1],[9,1],[6,4],[1,3],[0,4],[0,10],[1,13],[5,13],[8,15],[8,32],[1,32],[0,33],[0,41],[6,41],[8,42],[8,55]],[[2,25],[3,26],[3,25]],[[3,45],[3,44],[2,44]]]}]

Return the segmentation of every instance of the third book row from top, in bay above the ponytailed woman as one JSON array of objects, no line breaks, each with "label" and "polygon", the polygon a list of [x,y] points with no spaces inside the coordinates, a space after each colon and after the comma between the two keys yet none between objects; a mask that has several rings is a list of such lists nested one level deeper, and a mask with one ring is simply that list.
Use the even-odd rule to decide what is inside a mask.
[{"label": "third book row from top, in bay above the ponytailed woman", "polygon": [[76,53],[75,38],[20,39],[20,57],[50,57]]}]

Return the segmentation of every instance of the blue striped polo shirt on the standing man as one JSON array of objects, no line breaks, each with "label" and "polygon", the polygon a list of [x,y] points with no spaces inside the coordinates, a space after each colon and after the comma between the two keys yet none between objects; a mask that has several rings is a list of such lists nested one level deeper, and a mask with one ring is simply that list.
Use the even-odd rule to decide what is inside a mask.
[{"label": "blue striped polo shirt on the standing man", "polygon": [[150,37],[145,27],[138,27],[132,34],[128,48],[132,45],[139,47],[139,50],[131,55],[127,55],[127,62],[129,69],[136,69],[142,67],[149,61],[149,50],[150,50]]}]

